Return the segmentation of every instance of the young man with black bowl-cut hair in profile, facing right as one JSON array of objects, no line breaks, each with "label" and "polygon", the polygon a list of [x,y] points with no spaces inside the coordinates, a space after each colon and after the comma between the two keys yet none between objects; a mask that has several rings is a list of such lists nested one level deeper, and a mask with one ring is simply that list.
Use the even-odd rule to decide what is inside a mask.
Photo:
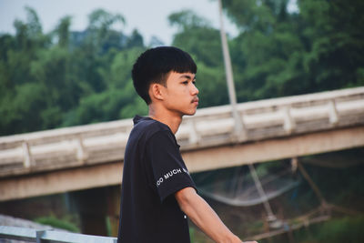
[{"label": "young man with black bowl-cut hair in profile, facing right", "polygon": [[134,118],[127,141],[117,242],[190,242],[187,217],[216,242],[241,242],[197,195],[179,153],[182,116],[198,105],[196,72],[191,56],[171,46],[147,50],[133,66],[149,114]]}]

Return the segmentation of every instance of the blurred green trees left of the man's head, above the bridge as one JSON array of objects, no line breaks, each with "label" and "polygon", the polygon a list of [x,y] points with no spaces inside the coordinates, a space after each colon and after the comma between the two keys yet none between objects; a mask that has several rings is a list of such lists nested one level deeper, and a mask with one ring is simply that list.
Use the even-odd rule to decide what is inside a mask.
[{"label": "blurred green trees left of the man's head, above the bridge", "polygon": [[0,135],[147,114],[130,75],[146,47],[137,30],[127,37],[113,28],[122,15],[97,9],[83,34],[65,16],[43,34],[35,11],[25,11],[15,36],[0,36]]}]

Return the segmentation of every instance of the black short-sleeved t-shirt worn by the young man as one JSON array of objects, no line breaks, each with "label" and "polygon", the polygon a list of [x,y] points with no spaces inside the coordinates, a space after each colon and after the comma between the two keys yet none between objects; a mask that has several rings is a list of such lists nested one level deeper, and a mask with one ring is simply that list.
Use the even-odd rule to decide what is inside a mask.
[{"label": "black short-sleeved t-shirt worn by the young man", "polygon": [[126,144],[117,242],[190,242],[174,193],[194,187],[167,125],[136,116]]}]

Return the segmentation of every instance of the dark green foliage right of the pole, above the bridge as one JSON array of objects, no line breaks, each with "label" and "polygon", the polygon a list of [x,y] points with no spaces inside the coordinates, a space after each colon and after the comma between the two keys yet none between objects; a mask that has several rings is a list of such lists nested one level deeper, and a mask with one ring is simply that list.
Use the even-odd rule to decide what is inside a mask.
[{"label": "dark green foliage right of the pole, above the bridge", "polygon": [[284,0],[223,5],[242,30],[232,40],[238,100],[363,85],[362,2],[301,0],[298,13]]}]

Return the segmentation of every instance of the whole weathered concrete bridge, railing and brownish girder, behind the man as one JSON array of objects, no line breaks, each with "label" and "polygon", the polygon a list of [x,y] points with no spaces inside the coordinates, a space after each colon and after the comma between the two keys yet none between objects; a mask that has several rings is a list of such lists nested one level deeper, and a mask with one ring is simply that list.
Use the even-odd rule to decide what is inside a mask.
[{"label": "whole weathered concrete bridge, railing and brownish girder, behind the man", "polygon": [[[364,87],[197,110],[177,132],[190,172],[364,146]],[[119,185],[125,119],[0,137],[0,201]]]}]

